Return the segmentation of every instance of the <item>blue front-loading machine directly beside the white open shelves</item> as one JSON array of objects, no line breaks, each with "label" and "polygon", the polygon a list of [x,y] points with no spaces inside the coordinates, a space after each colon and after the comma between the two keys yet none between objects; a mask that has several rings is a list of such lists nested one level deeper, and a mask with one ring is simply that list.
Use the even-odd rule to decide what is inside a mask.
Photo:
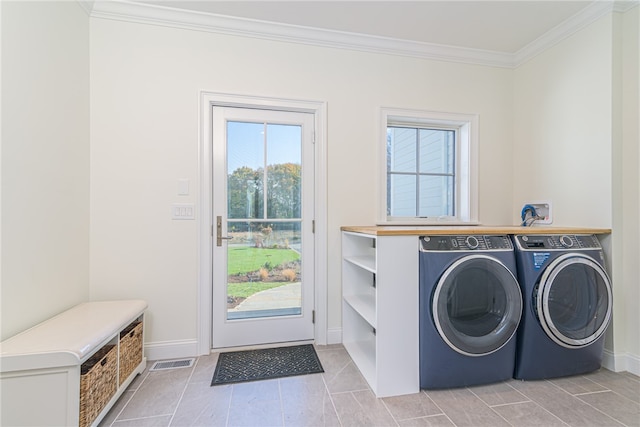
[{"label": "blue front-loading machine directly beside the white open shelves", "polygon": [[507,235],[420,237],[420,387],[513,375],[522,295]]}]

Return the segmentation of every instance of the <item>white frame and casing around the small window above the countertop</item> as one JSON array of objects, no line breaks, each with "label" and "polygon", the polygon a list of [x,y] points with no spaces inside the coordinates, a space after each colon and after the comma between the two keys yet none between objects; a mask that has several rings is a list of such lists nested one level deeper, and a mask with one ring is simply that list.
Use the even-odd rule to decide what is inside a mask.
[{"label": "white frame and casing around the small window above the countertop", "polygon": [[[389,125],[437,127],[456,130],[455,216],[387,216],[387,127]],[[378,224],[436,225],[478,224],[478,115],[438,111],[381,108]]]}]

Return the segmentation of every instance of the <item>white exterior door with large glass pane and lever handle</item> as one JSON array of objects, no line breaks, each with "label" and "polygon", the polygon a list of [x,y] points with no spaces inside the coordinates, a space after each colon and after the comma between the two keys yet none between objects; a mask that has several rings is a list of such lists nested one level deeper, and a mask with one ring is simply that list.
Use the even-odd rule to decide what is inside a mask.
[{"label": "white exterior door with large glass pane and lever handle", "polygon": [[313,126],[213,107],[213,348],[313,339]]}]

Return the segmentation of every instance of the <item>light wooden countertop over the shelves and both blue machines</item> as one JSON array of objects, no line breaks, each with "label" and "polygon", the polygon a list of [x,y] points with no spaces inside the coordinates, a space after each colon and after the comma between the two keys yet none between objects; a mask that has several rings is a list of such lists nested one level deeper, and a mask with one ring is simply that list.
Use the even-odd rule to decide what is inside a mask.
[{"label": "light wooden countertop over the shelves and both blue machines", "polygon": [[610,228],[521,227],[517,225],[371,225],[343,226],[342,231],[374,236],[421,236],[445,234],[610,234]]}]

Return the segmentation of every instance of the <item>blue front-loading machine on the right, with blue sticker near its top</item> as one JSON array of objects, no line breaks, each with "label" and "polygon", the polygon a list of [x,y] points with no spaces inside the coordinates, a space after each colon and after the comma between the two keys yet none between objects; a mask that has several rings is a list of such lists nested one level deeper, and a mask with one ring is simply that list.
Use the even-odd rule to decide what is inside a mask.
[{"label": "blue front-loading machine on the right, with blue sticker near its top", "polygon": [[563,377],[602,362],[611,281],[594,235],[513,236],[524,312],[514,377]]}]

